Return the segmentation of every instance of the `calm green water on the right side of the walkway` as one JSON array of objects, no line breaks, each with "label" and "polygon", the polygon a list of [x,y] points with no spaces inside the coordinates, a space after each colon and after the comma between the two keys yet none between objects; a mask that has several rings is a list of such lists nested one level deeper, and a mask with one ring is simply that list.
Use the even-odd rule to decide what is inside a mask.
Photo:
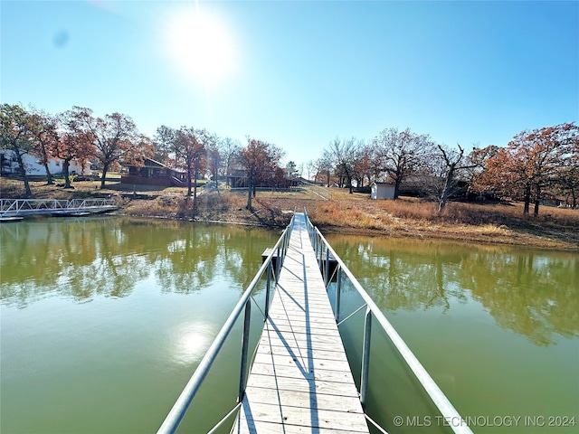
[{"label": "calm green water on the right side of the walkway", "polygon": [[[579,255],[327,240],[474,432],[579,432]],[[345,294],[343,317],[360,306],[352,290]],[[353,320],[340,328],[359,372],[362,315]],[[369,413],[389,432],[448,431],[376,330]],[[403,418],[400,428],[396,416]]]}]

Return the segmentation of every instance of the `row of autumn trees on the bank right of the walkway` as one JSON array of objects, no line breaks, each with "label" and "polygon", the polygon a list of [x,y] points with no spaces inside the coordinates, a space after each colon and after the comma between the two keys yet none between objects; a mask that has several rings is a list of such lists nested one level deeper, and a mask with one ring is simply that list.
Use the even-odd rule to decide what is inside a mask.
[{"label": "row of autumn trees on the bank right of the walkway", "polygon": [[564,123],[518,133],[508,145],[473,147],[436,144],[409,128],[386,128],[370,141],[335,138],[322,156],[310,162],[317,179],[349,187],[373,182],[394,184],[394,200],[403,184],[438,200],[439,212],[462,186],[463,194],[521,200],[534,214],[546,200],[564,198],[577,206],[579,127]]}]

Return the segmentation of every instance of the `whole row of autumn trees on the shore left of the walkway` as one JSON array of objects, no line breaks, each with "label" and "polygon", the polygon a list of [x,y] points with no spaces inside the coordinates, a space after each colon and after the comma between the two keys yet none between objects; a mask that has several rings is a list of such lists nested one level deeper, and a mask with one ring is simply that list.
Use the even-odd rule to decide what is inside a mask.
[{"label": "whole row of autumn trees on the shore left of the walkway", "polygon": [[[195,180],[200,175],[230,175],[233,167],[240,167],[247,180],[248,209],[256,185],[280,182],[284,172],[280,168],[283,151],[279,146],[247,137],[247,145],[229,137],[221,138],[204,128],[157,128],[155,137],[138,132],[131,118],[112,113],[102,118],[91,109],[73,107],[52,115],[38,109],[24,109],[20,105],[3,104],[0,110],[0,149],[12,151],[24,181],[26,196],[31,196],[24,155],[36,156],[45,167],[48,184],[54,184],[49,170],[51,159],[62,160],[64,187],[71,188],[71,161],[83,170],[90,164],[100,167],[100,188],[106,176],[121,165],[143,166],[145,159],[181,169],[186,174],[187,195],[196,198]],[[293,163],[292,163],[293,165]],[[215,182],[218,186],[218,183]]]}]

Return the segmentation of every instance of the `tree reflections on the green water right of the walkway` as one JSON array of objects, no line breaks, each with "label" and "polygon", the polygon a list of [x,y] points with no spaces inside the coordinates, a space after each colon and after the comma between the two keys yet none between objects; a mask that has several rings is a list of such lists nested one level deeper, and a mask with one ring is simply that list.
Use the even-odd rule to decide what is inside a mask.
[{"label": "tree reflections on the green water right of the walkway", "polygon": [[579,255],[505,246],[330,235],[385,311],[477,300],[499,325],[548,345],[579,336]]}]

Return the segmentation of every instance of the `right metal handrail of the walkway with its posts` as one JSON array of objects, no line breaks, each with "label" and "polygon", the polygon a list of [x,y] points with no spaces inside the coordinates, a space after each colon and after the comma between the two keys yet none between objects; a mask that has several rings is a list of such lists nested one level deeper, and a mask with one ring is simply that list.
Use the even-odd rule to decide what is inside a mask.
[{"label": "right metal handrail of the walkway with its posts", "polygon": [[451,401],[449,401],[444,392],[441,391],[441,388],[438,386],[438,384],[432,380],[431,375],[426,371],[426,369],[424,369],[422,363],[419,362],[408,345],[403,341],[403,338],[398,335],[398,332],[396,332],[394,326],[390,324],[380,308],[376,306],[374,300],[365,292],[365,289],[362,288],[362,285],[360,285],[356,277],[354,277],[352,272],[346,267],[346,264],[344,264],[342,259],[337,256],[336,251],[332,249],[321,232],[318,231],[318,228],[314,227],[313,224],[309,221],[308,214],[305,210],[304,213],[306,214],[306,226],[308,227],[310,241],[314,250],[316,251],[316,254],[318,255],[320,264],[322,264],[324,253],[326,253],[326,285],[330,281],[330,279],[327,278],[327,259],[329,259],[330,255],[333,255],[334,259],[337,261],[336,320],[338,321],[339,316],[339,297],[342,274],[339,272],[340,270],[344,272],[346,277],[350,280],[354,288],[356,288],[356,291],[362,297],[365,303],[365,330],[364,345],[362,350],[362,373],[360,381],[360,401],[362,402],[363,408],[365,409],[365,399],[368,387],[368,370],[370,365],[370,334],[372,328],[372,320],[375,318],[378,321],[378,324],[382,326],[384,332],[386,335],[388,335],[398,352],[402,355],[404,362],[410,367],[418,381],[422,384],[422,387],[428,393],[434,405],[436,405],[438,410],[441,411],[442,417],[444,417],[445,420],[461,421],[458,424],[451,423],[451,429],[457,434],[472,434],[472,430],[469,428],[466,422],[464,422],[459,412],[454,408],[454,406],[451,404]]}]

